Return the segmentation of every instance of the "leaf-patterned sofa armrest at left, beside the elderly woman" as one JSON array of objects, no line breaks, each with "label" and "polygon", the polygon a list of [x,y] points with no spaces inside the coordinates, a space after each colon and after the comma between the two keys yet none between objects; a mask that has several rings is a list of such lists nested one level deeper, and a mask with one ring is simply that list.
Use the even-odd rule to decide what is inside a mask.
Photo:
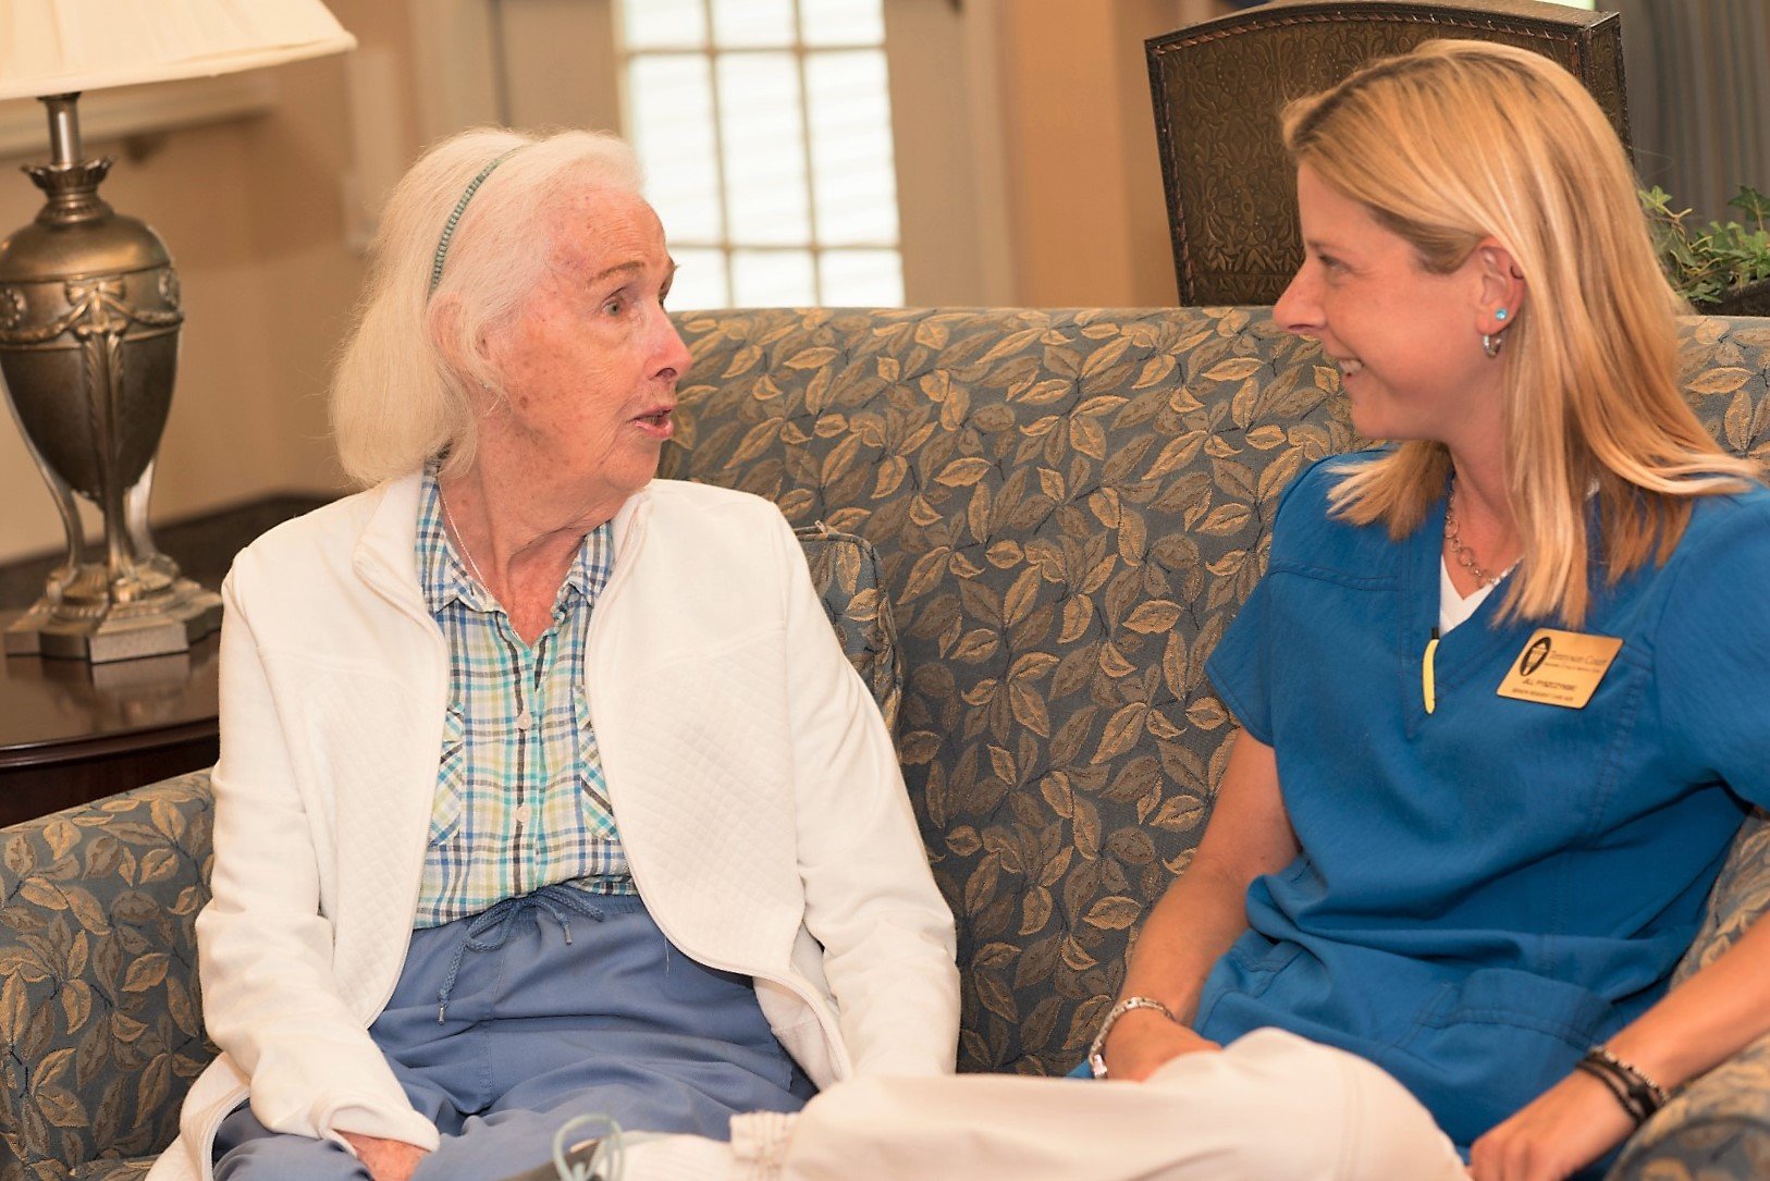
[{"label": "leaf-patterned sofa armrest at left, beside the elderly woman", "polygon": [[172,1142],[214,1057],[193,928],[211,814],[204,770],[0,829],[0,1156],[19,1177]]}]

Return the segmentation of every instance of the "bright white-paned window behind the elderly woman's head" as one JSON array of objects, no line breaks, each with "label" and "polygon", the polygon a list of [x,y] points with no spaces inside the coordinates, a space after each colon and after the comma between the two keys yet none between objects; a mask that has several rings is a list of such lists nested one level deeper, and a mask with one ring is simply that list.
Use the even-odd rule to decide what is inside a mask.
[{"label": "bright white-paned window behind the elderly woman's head", "polygon": [[621,0],[671,306],[903,303],[881,0]]}]

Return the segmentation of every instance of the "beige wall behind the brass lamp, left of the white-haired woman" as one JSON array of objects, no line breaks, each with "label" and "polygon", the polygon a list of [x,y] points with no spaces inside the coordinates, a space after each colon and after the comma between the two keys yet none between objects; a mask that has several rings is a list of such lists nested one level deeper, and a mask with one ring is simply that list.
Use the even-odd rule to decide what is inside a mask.
[{"label": "beige wall behind the brass lamp, left of the white-haired woman", "polygon": [[[402,5],[333,0],[365,50],[393,50],[404,87],[393,136],[416,149]],[[204,512],[285,489],[338,487],[326,441],[327,365],[356,299],[343,182],[354,127],[342,57],[273,71],[274,113],[88,142],[117,159],[103,195],[166,241],[184,292],[179,384],[161,443],[152,515]],[[384,140],[388,136],[382,136]],[[41,204],[0,159],[0,232]],[[18,432],[0,421],[0,561],[58,549],[60,522]]]}]

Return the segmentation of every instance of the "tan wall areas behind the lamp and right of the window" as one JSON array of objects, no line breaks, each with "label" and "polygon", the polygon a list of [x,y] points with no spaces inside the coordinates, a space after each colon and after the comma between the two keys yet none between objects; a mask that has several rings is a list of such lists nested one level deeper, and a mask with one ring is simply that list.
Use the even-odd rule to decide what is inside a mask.
[{"label": "tan wall areas behind the lamp and right of the window", "polygon": [[[104,197],[161,234],[182,278],[156,521],[340,485],[324,391],[363,276],[347,184],[386,181],[419,145],[409,5],[428,2],[331,0],[379,69],[336,57],[285,66],[269,115],[88,143],[119,158]],[[991,294],[1044,306],[1172,301],[1143,39],[1211,16],[1218,0],[1004,0],[993,11],[1012,266]],[[44,154],[0,159],[0,227],[35,214],[39,195],[16,165]],[[0,423],[0,561],[60,540],[23,441]]]}]

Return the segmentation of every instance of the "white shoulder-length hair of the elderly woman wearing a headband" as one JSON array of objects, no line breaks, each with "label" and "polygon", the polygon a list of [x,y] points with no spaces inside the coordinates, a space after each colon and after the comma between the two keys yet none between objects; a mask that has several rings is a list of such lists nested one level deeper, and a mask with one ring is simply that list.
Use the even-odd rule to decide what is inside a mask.
[{"label": "white shoulder-length hair of the elderly woman wearing a headband", "polygon": [[[467,202],[430,290],[450,214]],[[446,455],[473,464],[478,443],[469,390],[497,386],[480,343],[515,317],[552,257],[547,211],[568,188],[637,193],[639,161],[604,131],[529,136],[462,131],[430,147],[388,197],[370,248],[368,283],[331,388],[331,425],[345,475],[359,485],[416,471]]]}]

